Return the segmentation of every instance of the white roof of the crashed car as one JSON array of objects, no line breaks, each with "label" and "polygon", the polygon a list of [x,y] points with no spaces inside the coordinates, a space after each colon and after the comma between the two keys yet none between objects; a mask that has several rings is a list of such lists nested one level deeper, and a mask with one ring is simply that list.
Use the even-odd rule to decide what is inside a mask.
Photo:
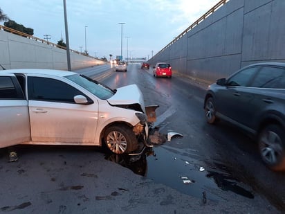
[{"label": "white roof of the crashed car", "polygon": [[76,74],[72,71],[63,71],[63,70],[53,70],[53,69],[8,69],[0,71],[1,73],[37,73],[37,74],[46,74],[46,75],[55,75],[64,77],[66,75]]}]

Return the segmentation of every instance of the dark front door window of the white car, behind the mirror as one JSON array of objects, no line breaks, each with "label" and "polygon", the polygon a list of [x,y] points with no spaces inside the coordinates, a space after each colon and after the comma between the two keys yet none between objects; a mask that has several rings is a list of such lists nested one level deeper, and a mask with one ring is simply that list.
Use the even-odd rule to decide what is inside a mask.
[{"label": "dark front door window of the white car, behind the mirror", "polygon": [[28,97],[30,100],[42,100],[48,102],[74,102],[74,96],[84,95],[65,82],[51,78],[28,78]]}]

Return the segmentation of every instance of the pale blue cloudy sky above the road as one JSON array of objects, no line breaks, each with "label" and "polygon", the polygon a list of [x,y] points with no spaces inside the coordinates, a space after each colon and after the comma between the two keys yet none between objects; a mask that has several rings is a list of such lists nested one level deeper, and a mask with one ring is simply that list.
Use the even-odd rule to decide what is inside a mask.
[{"label": "pale blue cloudy sky above the road", "polygon": [[[149,59],[218,2],[66,0],[69,47],[108,60],[121,51],[123,58]],[[9,19],[33,28],[35,37],[66,43],[64,0],[2,0],[0,8]]]}]

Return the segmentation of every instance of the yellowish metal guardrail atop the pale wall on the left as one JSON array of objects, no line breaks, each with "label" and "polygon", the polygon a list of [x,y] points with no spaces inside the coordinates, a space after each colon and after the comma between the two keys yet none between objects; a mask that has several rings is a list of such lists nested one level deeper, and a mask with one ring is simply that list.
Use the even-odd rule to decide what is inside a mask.
[{"label": "yellowish metal guardrail atop the pale wall on the left", "polygon": [[[19,35],[19,36],[21,36],[21,37],[26,37],[26,38],[28,38],[28,39],[35,40],[35,41],[37,41],[37,42],[42,42],[42,43],[44,43],[44,44],[48,44],[48,45],[50,45],[50,46],[54,46],[54,47],[62,48],[62,49],[64,49],[64,50],[66,50],[66,47],[64,47],[64,46],[61,46],[61,45],[59,45],[59,44],[55,44],[55,43],[53,43],[53,42],[48,42],[47,40],[40,39],[40,38],[38,38],[38,37],[34,37],[33,35],[29,35],[29,34],[26,34],[26,33],[21,32],[21,31],[19,31],[19,30],[14,30],[14,29],[12,29],[12,28],[8,28],[8,27],[6,27],[6,26],[0,25],[0,30],[4,30],[4,31],[6,31],[6,32],[9,32],[9,33],[12,33],[12,34],[16,34],[16,35]],[[86,55],[86,54],[84,54],[84,53],[80,53],[79,51],[75,51],[75,50],[72,50],[72,49],[69,49],[69,51],[71,51],[71,52],[73,52],[73,53],[80,54],[80,55],[84,55],[84,56],[86,56],[86,57],[95,58],[95,57],[92,57],[92,56],[90,56],[90,55]],[[98,60],[98,59],[97,59],[97,60]]]}]

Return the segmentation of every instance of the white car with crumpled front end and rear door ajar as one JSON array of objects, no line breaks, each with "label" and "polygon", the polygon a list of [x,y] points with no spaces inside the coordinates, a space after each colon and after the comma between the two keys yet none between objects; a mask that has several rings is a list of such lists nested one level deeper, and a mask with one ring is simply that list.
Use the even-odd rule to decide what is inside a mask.
[{"label": "white car with crumpled front end and rear door ajar", "polygon": [[11,69],[0,72],[0,115],[0,148],[106,143],[122,154],[147,142],[155,108],[136,84],[113,90],[74,72]]}]

